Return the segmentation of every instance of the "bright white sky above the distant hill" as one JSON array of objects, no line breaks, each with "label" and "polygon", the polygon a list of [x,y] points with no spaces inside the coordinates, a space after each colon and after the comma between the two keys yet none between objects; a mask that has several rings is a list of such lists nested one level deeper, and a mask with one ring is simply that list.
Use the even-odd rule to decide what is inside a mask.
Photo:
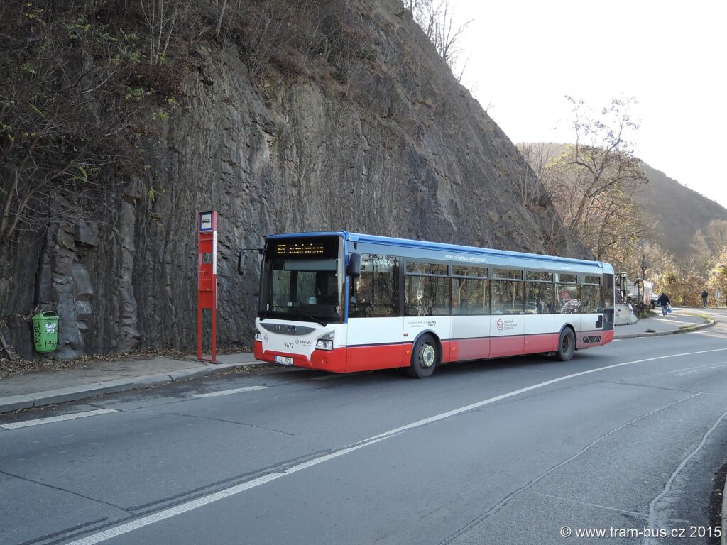
[{"label": "bright white sky above the distant hill", "polygon": [[727,207],[727,2],[450,0],[462,84],[513,142],[573,142],[566,95],[635,97],[636,155]]}]

